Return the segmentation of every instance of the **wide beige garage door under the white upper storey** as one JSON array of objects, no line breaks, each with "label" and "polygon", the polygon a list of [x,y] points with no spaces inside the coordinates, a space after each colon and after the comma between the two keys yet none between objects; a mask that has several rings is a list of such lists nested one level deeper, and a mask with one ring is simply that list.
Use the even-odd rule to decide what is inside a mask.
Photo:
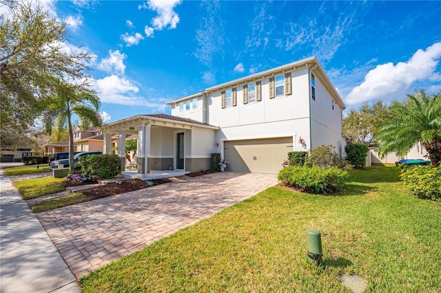
[{"label": "wide beige garage door under the white upper storey", "polygon": [[227,141],[224,143],[224,158],[229,162],[227,171],[276,174],[292,146],[292,137]]}]

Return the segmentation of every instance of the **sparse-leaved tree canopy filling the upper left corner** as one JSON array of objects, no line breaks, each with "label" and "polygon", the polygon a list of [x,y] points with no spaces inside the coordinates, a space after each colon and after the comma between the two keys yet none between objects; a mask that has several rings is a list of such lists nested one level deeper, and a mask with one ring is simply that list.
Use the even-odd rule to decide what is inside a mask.
[{"label": "sparse-leaved tree canopy filling the upper left corner", "polygon": [[[68,50],[67,30],[38,3],[0,0],[1,130],[26,129],[45,108],[53,78],[79,80],[90,68],[90,54]],[[3,137],[4,138],[4,137]],[[3,140],[2,138],[2,140]],[[3,144],[3,142],[2,142]]]}]

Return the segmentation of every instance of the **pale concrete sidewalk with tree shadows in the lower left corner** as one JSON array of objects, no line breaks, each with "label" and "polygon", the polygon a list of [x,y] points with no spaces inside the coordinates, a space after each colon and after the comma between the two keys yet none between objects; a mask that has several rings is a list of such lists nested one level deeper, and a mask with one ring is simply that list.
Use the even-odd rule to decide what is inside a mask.
[{"label": "pale concrete sidewalk with tree shadows in the lower left corner", "polygon": [[79,292],[40,221],[0,169],[0,292]]}]

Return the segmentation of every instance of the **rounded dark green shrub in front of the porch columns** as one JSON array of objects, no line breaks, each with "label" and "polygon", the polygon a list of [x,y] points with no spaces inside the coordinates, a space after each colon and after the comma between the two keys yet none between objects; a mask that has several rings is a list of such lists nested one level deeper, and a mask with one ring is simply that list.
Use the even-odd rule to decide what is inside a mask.
[{"label": "rounded dark green shrub in front of the porch columns", "polygon": [[121,169],[116,155],[83,155],[78,162],[83,175],[98,176],[101,179],[113,178]]}]

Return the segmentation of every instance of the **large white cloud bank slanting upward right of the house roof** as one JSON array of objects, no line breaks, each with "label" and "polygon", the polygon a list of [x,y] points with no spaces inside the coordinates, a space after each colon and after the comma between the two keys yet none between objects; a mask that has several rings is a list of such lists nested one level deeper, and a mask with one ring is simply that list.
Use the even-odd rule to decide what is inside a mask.
[{"label": "large white cloud bank slanting upward right of the house roof", "polygon": [[435,72],[440,58],[441,43],[434,43],[425,51],[418,50],[407,62],[377,65],[366,74],[361,85],[349,92],[345,101],[355,105],[391,96],[402,89],[408,89],[416,81],[440,81],[440,73]]}]

